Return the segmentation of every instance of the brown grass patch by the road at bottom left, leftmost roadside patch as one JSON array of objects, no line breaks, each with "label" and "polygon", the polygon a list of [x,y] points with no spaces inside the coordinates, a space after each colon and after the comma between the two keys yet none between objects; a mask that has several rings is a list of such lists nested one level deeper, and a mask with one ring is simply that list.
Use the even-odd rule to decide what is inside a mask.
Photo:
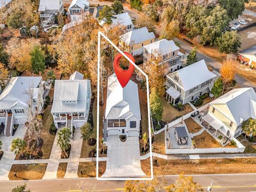
[{"label": "brown grass patch by the road at bottom left, leftmost roadside patch", "polygon": [[[13,164],[9,172],[10,180],[31,180],[42,179],[46,170],[47,163],[39,164]],[[14,173],[17,177],[14,177]]]}]

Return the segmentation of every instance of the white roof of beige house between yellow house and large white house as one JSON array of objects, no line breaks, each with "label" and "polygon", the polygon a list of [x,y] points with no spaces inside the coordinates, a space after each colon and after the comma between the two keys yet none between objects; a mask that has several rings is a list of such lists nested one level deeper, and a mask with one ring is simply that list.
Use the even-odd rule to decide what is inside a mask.
[{"label": "white roof of beige house between yellow house and large white house", "polygon": [[167,53],[171,53],[173,51],[180,49],[180,47],[175,45],[174,41],[172,41],[172,40],[168,41],[167,39],[161,39],[157,42],[150,43],[143,47],[150,54],[154,53],[154,54],[161,54],[161,55],[165,55]]}]

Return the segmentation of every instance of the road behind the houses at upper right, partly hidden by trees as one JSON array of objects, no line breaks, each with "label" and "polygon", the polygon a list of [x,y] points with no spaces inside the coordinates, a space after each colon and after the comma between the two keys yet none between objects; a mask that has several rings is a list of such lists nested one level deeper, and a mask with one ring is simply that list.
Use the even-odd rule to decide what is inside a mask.
[{"label": "road behind the houses at upper right, partly hidden by trees", "polygon": [[[193,49],[193,47],[191,47],[188,43],[186,43],[185,41],[182,41],[179,38],[174,38],[174,40],[179,42],[180,47],[188,53]],[[213,68],[214,70],[218,71],[218,73],[220,73],[220,69],[222,67],[221,63],[214,61],[213,59],[211,59],[210,57],[207,57],[206,55],[204,55],[199,51],[197,51],[197,57],[199,60],[204,59],[207,65],[209,65],[211,68]],[[256,91],[256,84],[247,81],[247,79],[245,79],[240,75],[236,75],[236,82],[238,85],[241,85],[242,87],[253,87],[253,89]]]}]

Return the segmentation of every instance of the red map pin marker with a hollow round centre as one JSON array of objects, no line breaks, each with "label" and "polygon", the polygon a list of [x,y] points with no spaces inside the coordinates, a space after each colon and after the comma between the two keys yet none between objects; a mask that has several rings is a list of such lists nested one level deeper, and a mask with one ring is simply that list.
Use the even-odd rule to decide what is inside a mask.
[{"label": "red map pin marker with a hollow round centre", "polygon": [[[134,58],[130,53],[124,52],[124,54],[129,57],[133,62]],[[120,67],[119,60],[120,58],[123,57],[121,53],[118,53],[114,59],[114,71],[116,73],[116,77],[121,84],[121,86],[124,88],[127,83],[129,82],[130,78],[132,77],[133,71],[134,71],[134,66],[130,62],[129,68],[127,70],[124,70]]]}]

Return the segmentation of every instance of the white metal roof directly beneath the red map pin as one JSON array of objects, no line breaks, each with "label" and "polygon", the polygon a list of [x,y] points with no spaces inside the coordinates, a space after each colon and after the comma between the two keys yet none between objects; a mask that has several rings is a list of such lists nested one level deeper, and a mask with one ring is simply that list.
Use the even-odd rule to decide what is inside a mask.
[{"label": "white metal roof directly beneath the red map pin", "polygon": [[138,85],[130,80],[123,88],[115,74],[109,76],[105,118],[120,119],[132,115],[141,119]]}]

